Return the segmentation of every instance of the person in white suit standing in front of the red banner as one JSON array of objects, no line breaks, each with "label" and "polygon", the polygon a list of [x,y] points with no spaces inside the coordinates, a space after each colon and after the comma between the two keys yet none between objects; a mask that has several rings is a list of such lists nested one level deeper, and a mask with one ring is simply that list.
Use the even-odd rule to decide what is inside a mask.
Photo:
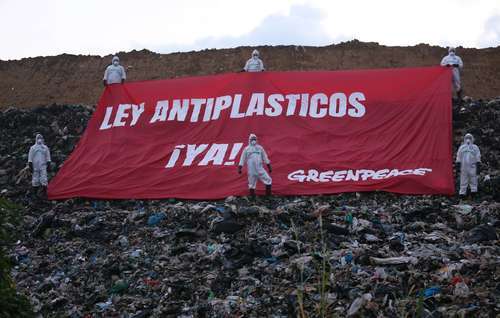
[{"label": "person in white suit standing in front of the red banner", "polygon": [[257,136],[250,134],[248,137],[248,146],[245,147],[241,154],[240,164],[238,165],[238,173],[241,174],[243,165],[247,164],[248,173],[248,188],[250,196],[255,198],[255,188],[257,187],[257,180],[260,180],[266,186],[266,195],[271,195],[272,179],[264,169],[263,163],[267,165],[269,173],[272,172],[271,161],[267,157],[264,148],[257,143]]}]

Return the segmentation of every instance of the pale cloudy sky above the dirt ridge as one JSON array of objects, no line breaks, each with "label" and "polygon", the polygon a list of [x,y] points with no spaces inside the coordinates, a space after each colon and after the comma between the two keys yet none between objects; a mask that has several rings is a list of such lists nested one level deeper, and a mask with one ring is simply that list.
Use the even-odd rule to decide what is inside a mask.
[{"label": "pale cloudy sky above the dirt ridge", "polygon": [[0,59],[257,45],[500,45],[500,0],[0,0]]}]

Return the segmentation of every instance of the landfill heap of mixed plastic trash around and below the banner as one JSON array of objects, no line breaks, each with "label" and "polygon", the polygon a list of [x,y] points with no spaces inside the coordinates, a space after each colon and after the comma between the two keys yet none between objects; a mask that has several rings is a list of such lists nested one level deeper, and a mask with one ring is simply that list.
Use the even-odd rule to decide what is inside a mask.
[{"label": "landfill heap of mixed plastic trash around and below the banner", "polygon": [[22,171],[35,134],[60,166],[91,113],[0,114],[0,192],[24,206],[12,274],[43,317],[500,314],[500,99],[454,107],[454,151],[470,132],[483,154],[473,200],[377,192],[49,202],[31,194]]}]

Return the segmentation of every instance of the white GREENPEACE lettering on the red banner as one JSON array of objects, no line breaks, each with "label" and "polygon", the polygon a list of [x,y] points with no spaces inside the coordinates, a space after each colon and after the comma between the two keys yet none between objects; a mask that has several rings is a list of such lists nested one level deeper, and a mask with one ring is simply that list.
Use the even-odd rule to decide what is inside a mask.
[{"label": "white GREENPEACE lettering on the red banner", "polygon": [[417,169],[382,169],[382,170],[328,170],[320,172],[310,169],[307,172],[304,170],[296,170],[288,175],[288,180],[296,182],[345,182],[345,181],[367,181],[367,180],[382,180],[400,176],[424,176],[432,172],[429,168]]}]

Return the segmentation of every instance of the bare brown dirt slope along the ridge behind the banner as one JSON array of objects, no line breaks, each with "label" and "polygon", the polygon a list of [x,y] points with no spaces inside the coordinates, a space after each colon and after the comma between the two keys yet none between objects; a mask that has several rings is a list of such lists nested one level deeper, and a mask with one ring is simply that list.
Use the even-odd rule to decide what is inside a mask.
[{"label": "bare brown dirt slope along the ridge behind the banner", "polygon": [[[147,50],[120,53],[128,79],[148,80],[234,72],[253,48],[157,54]],[[351,41],[325,47],[259,47],[268,70],[339,70],[429,66],[439,63],[446,49],[417,45],[387,47]],[[500,47],[458,49],[465,63],[465,94],[500,95]],[[87,104],[102,92],[102,74],[111,56],[63,54],[51,57],[0,61],[0,108],[9,106]]]}]

